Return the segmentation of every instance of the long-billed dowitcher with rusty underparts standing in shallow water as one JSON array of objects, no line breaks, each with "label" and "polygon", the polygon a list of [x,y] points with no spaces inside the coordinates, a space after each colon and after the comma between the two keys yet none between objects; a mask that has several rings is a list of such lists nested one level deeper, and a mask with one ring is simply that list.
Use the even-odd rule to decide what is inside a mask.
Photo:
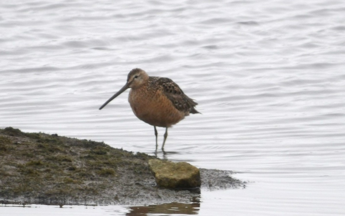
[{"label": "long-billed dowitcher with rusty underparts standing in shallow water", "polygon": [[168,128],[184,119],[190,113],[200,113],[195,109],[198,103],[185,95],[171,79],[149,76],[140,68],[132,69],[127,76],[126,85],[109,98],[99,109],[105,107],[111,100],[128,88],[131,88],[128,101],[134,115],[155,128],[156,150],[158,146],[156,127],[165,128],[162,144],[162,150],[164,150]]}]

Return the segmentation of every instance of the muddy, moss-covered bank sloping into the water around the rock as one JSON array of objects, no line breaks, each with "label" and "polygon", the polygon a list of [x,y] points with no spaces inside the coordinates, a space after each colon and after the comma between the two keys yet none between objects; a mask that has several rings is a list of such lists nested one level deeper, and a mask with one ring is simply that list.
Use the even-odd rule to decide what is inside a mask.
[{"label": "muddy, moss-covered bank sloping into the water around the rock", "polygon": [[[156,186],[147,164],[153,158],[103,142],[0,129],[0,203],[144,205],[193,199],[193,192]],[[227,171],[200,171],[202,186],[211,190],[244,186]]]}]

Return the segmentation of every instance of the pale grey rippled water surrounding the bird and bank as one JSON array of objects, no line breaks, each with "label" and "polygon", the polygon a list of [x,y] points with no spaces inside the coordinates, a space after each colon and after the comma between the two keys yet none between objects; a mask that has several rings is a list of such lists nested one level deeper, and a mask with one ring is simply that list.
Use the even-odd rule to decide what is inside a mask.
[{"label": "pale grey rippled water surrounding the bird and bank", "polygon": [[[344,215],[344,35],[341,0],[1,1],[0,127],[153,154],[153,127],[134,116],[128,91],[98,110],[140,67],[173,79],[203,113],[169,129],[166,158],[249,182],[201,191],[190,212]],[[136,208],[20,209],[1,212]],[[173,214],[147,212],[163,213]]]}]

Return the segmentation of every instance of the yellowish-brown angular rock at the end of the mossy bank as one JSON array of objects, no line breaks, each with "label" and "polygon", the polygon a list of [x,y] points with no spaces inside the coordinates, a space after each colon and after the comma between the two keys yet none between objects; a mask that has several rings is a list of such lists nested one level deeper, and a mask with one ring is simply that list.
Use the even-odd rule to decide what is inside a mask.
[{"label": "yellowish-brown angular rock at the end of the mossy bank", "polygon": [[199,169],[189,163],[151,159],[148,164],[160,187],[186,189],[201,185]]}]

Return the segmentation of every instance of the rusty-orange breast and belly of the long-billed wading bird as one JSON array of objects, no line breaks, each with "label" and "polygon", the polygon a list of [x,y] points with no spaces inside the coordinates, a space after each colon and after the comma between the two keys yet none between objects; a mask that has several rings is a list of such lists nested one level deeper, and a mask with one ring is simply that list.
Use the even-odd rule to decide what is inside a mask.
[{"label": "rusty-orange breast and belly of the long-billed wading bird", "polygon": [[152,126],[171,127],[185,117],[185,113],[177,110],[164,96],[141,97],[130,94],[128,101],[134,114]]}]

